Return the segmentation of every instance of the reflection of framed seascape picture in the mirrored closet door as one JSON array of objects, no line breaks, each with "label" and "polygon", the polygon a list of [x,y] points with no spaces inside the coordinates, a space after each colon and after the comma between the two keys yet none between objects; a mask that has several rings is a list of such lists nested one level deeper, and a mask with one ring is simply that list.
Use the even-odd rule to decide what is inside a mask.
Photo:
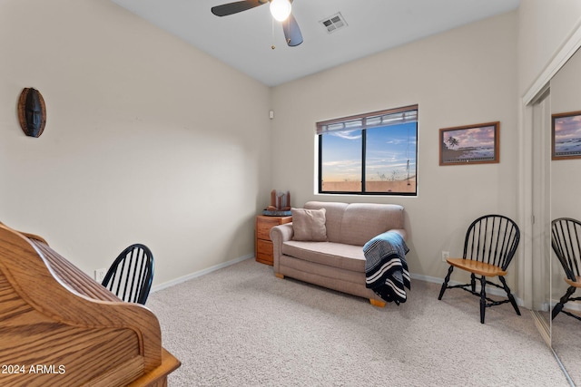
[{"label": "reflection of framed seascape picture in the mirrored closet door", "polygon": [[551,159],[581,159],[581,111],[551,115]]}]

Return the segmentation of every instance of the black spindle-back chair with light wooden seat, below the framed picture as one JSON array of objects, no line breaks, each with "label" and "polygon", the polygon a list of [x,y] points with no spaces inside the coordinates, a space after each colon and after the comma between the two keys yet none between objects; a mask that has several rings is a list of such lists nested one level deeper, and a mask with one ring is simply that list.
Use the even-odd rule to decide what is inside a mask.
[{"label": "black spindle-back chair with light wooden seat, below the framed picture", "polygon": [[[507,267],[517,252],[520,231],[517,224],[502,215],[485,215],[476,219],[468,227],[464,240],[464,254],[461,258],[448,258],[448,275],[440,289],[438,300],[446,289],[458,287],[480,297],[480,323],[484,324],[486,308],[510,302],[520,315],[515,297],[510,293],[505,277]],[[463,285],[448,285],[454,267],[468,271],[470,282]],[[487,277],[498,276],[498,285],[487,280]],[[480,280],[480,292],[476,291],[476,280]],[[507,298],[495,301],[487,297],[486,285],[494,285],[507,292]]]}]

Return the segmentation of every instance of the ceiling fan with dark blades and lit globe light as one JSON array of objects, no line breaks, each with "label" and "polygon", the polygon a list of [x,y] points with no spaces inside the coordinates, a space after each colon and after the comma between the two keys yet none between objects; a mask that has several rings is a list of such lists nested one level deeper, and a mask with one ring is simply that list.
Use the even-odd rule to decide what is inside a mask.
[{"label": "ceiling fan with dark blades and lit globe light", "polygon": [[227,16],[238,14],[248,9],[271,3],[271,15],[282,23],[282,31],[289,46],[294,47],[302,43],[299,24],[291,13],[292,0],[245,0],[212,6],[212,14]]}]

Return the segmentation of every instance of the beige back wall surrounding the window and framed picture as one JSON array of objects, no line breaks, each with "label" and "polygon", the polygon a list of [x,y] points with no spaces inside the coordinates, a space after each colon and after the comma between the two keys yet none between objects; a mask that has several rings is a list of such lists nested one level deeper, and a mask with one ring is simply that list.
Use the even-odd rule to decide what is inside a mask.
[{"label": "beige back wall surrounding the window and framed picture", "polygon": [[[406,208],[410,271],[443,277],[441,251],[461,256],[471,220],[516,216],[517,13],[469,24],[274,88],[273,186],[310,199]],[[419,104],[419,195],[315,195],[315,122]],[[500,163],[438,164],[440,128],[500,121]]]}]

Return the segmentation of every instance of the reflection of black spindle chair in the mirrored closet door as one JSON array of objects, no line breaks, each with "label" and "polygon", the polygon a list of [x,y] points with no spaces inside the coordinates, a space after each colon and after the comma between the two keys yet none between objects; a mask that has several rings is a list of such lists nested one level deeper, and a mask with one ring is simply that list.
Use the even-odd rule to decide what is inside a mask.
[{"label": "reflection of black spindle chair in the mirrored closet door", "polygon": [[556,314],[563,312],[581,321],[581,317],[563,310],[563,306],[569,301],[580,301],[581,297],[572,297],[575,291],[581,287],[581,222],[572,218],[557,218],[551,222],[551,246],[555,251],[563,270],[565,270],[565,282],[569,287],[565,295],[553,307],[551,320]]}]

